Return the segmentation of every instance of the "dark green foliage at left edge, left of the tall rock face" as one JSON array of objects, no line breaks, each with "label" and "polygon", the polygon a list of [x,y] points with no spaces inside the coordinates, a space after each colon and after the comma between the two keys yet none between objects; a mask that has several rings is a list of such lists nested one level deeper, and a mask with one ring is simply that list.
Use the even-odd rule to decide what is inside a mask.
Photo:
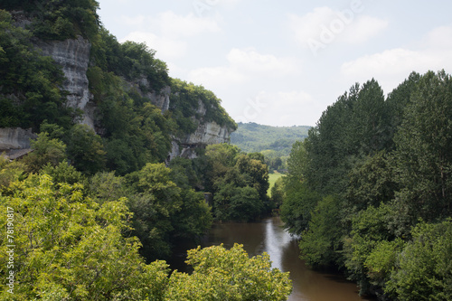
[{"label": "dark green foliage at left edge, left of the tall rock face", "polygon": [[33,127],[44,119],[64,127],[75,117],[64,106],[61,67],[34,50],[32,34],[0,10],[0,127]]}]

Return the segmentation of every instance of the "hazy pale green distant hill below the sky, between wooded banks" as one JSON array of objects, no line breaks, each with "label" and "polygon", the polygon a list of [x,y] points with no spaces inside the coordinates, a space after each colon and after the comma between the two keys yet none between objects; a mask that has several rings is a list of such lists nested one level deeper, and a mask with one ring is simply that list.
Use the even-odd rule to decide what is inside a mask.
[{"label": "hazy pale green distant hill below the sky, between wooded banks", "polygon": [[239,123],[239,127],[231,134],[231,144],[239,146],[246,153],[273,150],[278,155],[290,153],[294,142],[307,136],[308,126],[271,127],[257,123]]}]

